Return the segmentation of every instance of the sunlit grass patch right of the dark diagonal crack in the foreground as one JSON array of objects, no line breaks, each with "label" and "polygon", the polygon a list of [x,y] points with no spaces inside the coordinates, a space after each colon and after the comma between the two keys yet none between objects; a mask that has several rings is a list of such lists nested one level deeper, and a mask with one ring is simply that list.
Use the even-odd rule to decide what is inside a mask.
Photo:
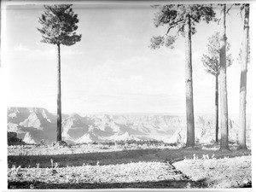
[{"label": "sunlit grass patch right of the dark diagonal crack in the foreground", "polygon": [[193,181],[204,180],[209,188],[252,187],[251,156],[222,159],[186,159],[173,164]]}]

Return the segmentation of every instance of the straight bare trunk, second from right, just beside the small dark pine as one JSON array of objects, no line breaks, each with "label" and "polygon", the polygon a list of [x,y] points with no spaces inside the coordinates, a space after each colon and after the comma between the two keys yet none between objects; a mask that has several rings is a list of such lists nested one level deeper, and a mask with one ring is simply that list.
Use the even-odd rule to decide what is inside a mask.
[{"label": "straight bare trunk, second from right, just beside the small dark pine", "polygon": [[228,92],[226,75],[226,5],[221,4],[220,12],[220,69],[219,69],[219,93],[220,93],[220,126],[221,141],[220,150],[229,150],[229,124],[228,124]]}]

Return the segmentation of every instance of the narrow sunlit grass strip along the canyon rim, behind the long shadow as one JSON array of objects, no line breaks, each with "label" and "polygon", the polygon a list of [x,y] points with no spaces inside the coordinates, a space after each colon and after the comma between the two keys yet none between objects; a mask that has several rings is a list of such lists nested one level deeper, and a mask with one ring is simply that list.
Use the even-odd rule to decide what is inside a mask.
[{"label": "narrow sunlit grass strip along the canyon rim, behind the long shadow", "polygon": [[88,154],[123,150],[180,148],[183,144],[156,143],[150,141],[139,143],[83,143],[55,147],[51,145],[13,145],[8,147],[8,155],[55,155],[55,154]]}]

